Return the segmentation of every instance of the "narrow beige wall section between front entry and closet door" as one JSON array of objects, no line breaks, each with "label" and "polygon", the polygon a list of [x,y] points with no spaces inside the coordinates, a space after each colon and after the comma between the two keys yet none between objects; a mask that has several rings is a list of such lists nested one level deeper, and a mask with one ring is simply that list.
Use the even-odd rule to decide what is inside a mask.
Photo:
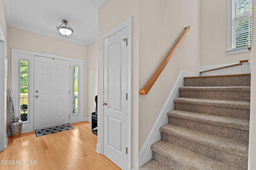
[{"label": "narrow beige wall section between front entry and closet door", "polygon": [[[88,46],[88,109],[87,117],[92,117],[96,103],[95,96],[98,94],[98,41]],[[100,105],[99,105],[100,106]]]}]

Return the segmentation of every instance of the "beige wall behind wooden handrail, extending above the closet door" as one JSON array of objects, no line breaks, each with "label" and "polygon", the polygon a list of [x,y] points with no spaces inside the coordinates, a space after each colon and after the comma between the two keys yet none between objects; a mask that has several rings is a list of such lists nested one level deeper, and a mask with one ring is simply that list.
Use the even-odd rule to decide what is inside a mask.
[{"label": "beige wall behind wooden handrail, extending above the closet door", "polygon": [[[181,70],[197,72],[200,65],[200,0],[108,0],[99,10],[99,39],[100,35],[130,16],[133,18],[132,168],[138,169],[138,151],[145,142],[178,74]],[[191,25],[190,33],[167,68],[150,93],[140,96],[139,88],[146,85],[184,27],[188,25]],[[100,49],[100,42],[98,48]],[[100,51],[98,59],[100,82]],[[100,97],[100,84],[98,95]],[[98,143],[99,139],[98,136]]]}]

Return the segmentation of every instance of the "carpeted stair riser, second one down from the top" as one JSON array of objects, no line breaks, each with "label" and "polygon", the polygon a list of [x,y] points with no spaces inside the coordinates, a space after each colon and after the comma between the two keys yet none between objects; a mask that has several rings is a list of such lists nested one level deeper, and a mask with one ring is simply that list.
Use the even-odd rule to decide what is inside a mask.
[{"label": "carpeted stair riser, second one down from the top", "polygon": [[250,92],[180,90],[180,97],[250,101]]}]

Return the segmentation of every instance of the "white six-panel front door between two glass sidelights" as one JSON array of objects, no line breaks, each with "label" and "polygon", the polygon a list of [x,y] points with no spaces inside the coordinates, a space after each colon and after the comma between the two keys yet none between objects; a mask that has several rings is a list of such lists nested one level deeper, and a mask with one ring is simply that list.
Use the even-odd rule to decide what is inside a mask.
[{"label": "white six-panel front door between two glass sidelights", "polygon": [[70,61],[34,56],[34,129],[69,123]]}]

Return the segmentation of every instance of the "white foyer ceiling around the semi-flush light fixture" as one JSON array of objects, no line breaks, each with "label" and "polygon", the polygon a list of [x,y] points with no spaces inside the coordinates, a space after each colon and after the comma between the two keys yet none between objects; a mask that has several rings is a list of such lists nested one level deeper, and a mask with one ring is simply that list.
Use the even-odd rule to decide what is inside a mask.
[{"label": "white foyer ceiling around the semi-flush light fixture", "polygon": [[[4,0],[8,26],[50,37],[90,45],[98,39],[98,9],[107,0]],[[68,20],[74,32],[56,28]]]}]

